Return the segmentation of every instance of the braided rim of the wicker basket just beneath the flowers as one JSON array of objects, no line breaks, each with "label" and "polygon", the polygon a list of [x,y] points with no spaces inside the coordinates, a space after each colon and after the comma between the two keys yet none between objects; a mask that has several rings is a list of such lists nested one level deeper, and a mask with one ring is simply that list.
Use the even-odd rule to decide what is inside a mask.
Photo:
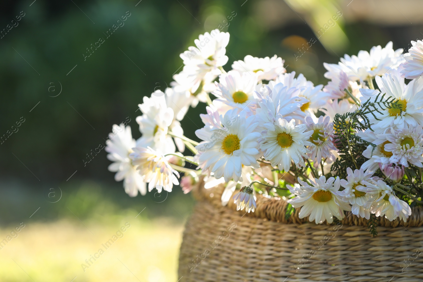
[{"label": "braided rim of the wicker basket just beneath the flowers", "polygon": [[[209,189],[204,188],[204,182],[202,179],[196,185],[193,190],[193,196],[198,201],[207,201],[214,205],[215,208],[222,208],[221,197],[222,193],[225,189],[223,184],[219,186],[215,186]],[[232,209],[236,211],[236,204],[233,203],[232,197],[239,191],[234,192],[231,195],[231,200],[229,200],[228,205],[225,208]],[[247,213],[245,211],[237,211],[241,216],[249,216],[249,217],[256,217],[261,218],[264,220],[270,220],[274,222],[281,222],[284,224],[304,224],[308,223],[308,216],[305,218],[299,218],[299,211],[300,208],[296,208],[295,212],[291,214],[291,216],[286,216],[286,208],[288,203],[286,200],[281,198],[271,198],[265,200],[257,200],[257,208],[254,212]],[[407,219],[407,222],[404,222],[402,219],[394,219],[393,221],[389,221],[385,218],[385,216],[378,216],[378,226],[383,227],[420,227],[423,225],[423,207],[413,207],[411,208],[412,214]],[[335,221],[334,221],[335,222]],[[368,219],[357,217],[356,215],[352,214],[351,211],[345,212],[345,217],[340,221],[342,224],[346,225],[357,225],[357,226],[368,226]],[[324,224],[328,224],[326,221]],[[335,223],[332,223],[335,224]]]}]

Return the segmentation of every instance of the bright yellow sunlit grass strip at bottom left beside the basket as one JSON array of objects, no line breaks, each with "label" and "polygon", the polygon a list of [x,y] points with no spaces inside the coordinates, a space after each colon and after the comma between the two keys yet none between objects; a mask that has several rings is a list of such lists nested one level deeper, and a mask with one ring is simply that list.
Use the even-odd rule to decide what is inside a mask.
[{"label": "bright yellow sunlit grass strip at bottom left beside the basket", "polygon": [[[83,223],[77,219],[26,222],[18,237],[0,250],[0,281],[177,281],[181,223],[167,218],[148,221],[135,215],[113,216],[101,223],[88,219]],[[130,227],[123,237],[105,249],[102,244],[126,222]],[[2,227],[0,240],[16,226]],[[96,255],[96,261],[91,259],[84,271],[82,263],[88,266],[85,260],[100,248],[104,253]]]}]

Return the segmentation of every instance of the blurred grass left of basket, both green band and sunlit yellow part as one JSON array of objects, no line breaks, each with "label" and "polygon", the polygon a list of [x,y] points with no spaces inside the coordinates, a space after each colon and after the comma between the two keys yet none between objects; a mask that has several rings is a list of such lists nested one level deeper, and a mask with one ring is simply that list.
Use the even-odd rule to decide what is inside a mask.
[{"label": "blurred grass left of basket, both green band and sunlit yellow part", "polygon": [[[48,187],[34,191],[16,181],[1,182],[0,244],[11,240],[0,249],[0,281],[177,281],[192,197],[175,187],[167,196],[151,192],[131,198],[121,184],[63,183],[58,200],[58,187],[55,197],[48,197],[53,191]],[[130,227],[123,237],[102,246],[126,222]],[[25,227],[11,234],[19,225]],[[85,260],[100,248],[104,253],[88,265]]]}]

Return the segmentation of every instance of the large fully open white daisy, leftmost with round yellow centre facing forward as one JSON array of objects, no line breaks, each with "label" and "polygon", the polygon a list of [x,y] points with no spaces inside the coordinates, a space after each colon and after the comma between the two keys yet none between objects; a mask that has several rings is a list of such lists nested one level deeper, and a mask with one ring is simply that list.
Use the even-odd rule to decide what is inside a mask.
[{"label": "large fully open white daisy, leftmost with round yellow centre facing forward", "polygon": [[247,117],[246,112],[237,114],[236,110],[220,116],[220,121],[221,126],[195,131],[197,137],[205,141],[195,147],[198,150],[196,159],[199,167],[213,172],[215,178],[224,177],[225,182],[232,178],[239,181],[242,165],[258,167],[260,133],[253,132],[258,123],[254,115]]}]

